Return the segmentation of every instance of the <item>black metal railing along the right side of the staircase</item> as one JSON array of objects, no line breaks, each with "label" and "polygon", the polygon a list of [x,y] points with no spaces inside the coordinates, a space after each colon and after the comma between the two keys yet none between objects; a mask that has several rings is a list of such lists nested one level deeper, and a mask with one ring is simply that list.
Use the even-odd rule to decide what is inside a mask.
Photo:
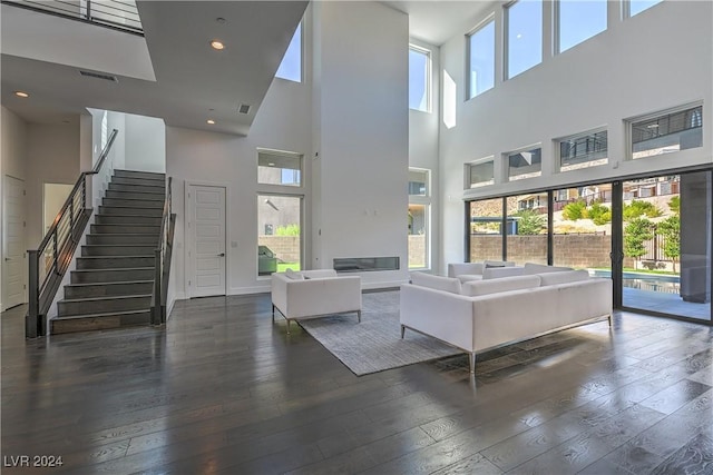
[{"label": "black metal railing along the right side of the staircase", "polygon": [[172,212],[172,177],[168,177],[164,214],[160,221],[160,237],[158,238],[158,247],[155,250],[156,275],[154,276],[154,291],[152,295],[152,325],[163,325],[167,318],[168,279],[170,277],[170,259],[176,228],[176,214]]}]

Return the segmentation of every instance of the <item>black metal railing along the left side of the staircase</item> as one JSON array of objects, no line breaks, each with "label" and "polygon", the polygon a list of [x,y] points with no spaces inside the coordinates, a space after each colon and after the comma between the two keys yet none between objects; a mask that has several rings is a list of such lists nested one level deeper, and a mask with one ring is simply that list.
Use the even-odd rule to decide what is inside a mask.
[{"label": "black metal railing along the left side of the staircase", "polygon": [[92,208],[87,207],[87,178],[97,175],[106,161],[118,130],[114,129],[91,171],[82,171],[37,249],[28,249],[28,313],[25,336],[47,335],[47,310],[71,263]]}]

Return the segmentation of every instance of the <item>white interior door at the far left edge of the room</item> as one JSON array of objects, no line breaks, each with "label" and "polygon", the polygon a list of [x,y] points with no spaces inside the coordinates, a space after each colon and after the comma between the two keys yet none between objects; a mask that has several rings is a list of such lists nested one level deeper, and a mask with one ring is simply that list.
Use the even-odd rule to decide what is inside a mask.
[{"label": "white interior door at the far left edge of the room", "polygon": [[10,176],[2,184],[2,306],[25,304],[25,181]]}]

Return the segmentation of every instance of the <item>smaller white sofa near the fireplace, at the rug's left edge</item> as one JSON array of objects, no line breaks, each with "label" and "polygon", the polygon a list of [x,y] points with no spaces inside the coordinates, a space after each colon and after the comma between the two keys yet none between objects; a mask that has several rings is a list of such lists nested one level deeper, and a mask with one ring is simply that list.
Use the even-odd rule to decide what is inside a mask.
[{"label": "smaller white sofa near the fireplace, at the rug's left edge", "polygon": [[361,277],[338,276],[333,269],[272,274],[272,321],[275,309],[290,323],[334,314],[356,313],[361,321]]}]

